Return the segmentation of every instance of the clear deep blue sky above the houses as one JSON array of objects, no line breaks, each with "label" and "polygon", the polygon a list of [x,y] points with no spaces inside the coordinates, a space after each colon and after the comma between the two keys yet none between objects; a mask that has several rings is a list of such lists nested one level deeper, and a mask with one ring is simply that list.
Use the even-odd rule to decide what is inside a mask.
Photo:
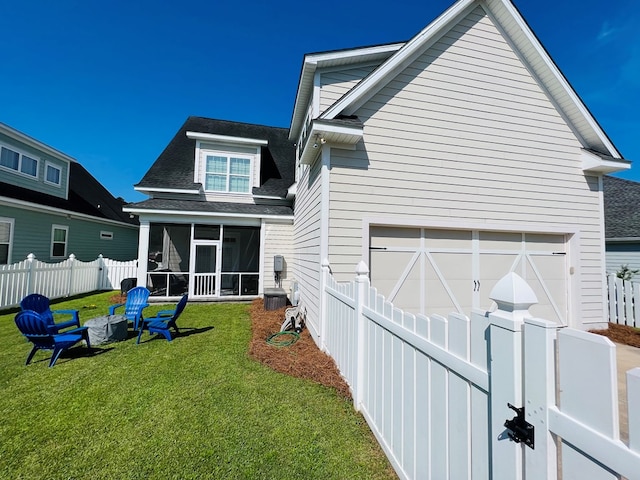
[{"label": "clear deep blue sky above the houses", "polygon": [[[189,115],[288,127],[305,53],[408,40],[453,0],[5,0],[0,122],[115,196]],[[640,181],[637,0],[514,2]]]}]

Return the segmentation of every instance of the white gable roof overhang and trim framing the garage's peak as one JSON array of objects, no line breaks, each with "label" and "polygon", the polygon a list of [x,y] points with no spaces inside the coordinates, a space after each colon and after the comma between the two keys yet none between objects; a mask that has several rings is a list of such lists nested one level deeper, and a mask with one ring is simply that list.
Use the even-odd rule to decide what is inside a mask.
[{"label": "white gable roof overhang and trim framing the garage's peak", "polygon": [[[598,125],[510,0],[458,0],[442,15],[406,42],[370,75],[337,100],[319,118],[332,119],[353,114],[404,67],[433,45],[471,10],[481,6],[502,31],[540,86],[547,93],[584,148],[622,156]],[[623,165],[621,168],[627,168]]]}]

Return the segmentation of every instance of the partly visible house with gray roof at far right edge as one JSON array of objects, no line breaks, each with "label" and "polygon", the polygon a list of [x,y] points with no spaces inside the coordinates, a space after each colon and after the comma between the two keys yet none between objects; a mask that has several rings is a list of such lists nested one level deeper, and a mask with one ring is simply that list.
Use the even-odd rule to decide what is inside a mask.
[{"label": "partly visible house with gray roof at far right edge", "polygon": [[640,183],[604,177],[607,273],[640,270]]}]

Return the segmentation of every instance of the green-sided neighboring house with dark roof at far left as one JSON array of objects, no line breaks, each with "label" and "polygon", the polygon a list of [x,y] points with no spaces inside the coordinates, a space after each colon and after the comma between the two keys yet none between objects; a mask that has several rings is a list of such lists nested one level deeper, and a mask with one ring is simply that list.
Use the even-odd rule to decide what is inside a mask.
[{"label": "green-sided neighboring house with dark roof at far left", "polygon": [[70,156],[0,123],[0,265],[136,258],[137,219]]}]

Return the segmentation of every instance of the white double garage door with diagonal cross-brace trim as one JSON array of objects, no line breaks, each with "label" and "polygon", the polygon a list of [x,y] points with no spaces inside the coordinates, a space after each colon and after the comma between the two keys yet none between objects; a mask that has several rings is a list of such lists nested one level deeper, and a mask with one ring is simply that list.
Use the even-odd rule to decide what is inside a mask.
[{"label": "white double garage door with diagonal cross-brace trim", "polygon": [[469,315],[493,310],[489,294],[509,272],[533,288],[536,317],[566,325],[564,235],[371,227],[371,283],[412,312]]}]

